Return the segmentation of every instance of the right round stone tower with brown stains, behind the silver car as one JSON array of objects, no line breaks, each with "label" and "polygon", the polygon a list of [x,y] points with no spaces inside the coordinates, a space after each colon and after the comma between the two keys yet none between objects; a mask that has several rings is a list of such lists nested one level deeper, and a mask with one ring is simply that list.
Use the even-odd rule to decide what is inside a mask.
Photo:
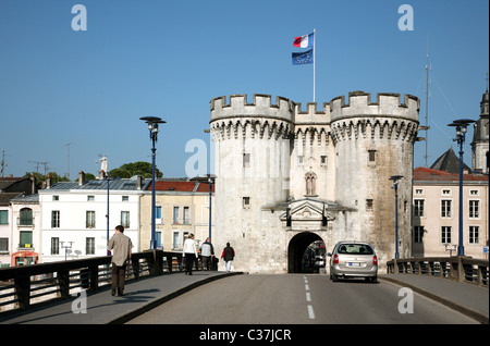
[{"label": "right round stone tower with brown stains, behind the silver car", "polygon": [[395,255],[395,191],[399,183],[399,254],[412,251],[411,210],[414,143],[418,131],[418,98],[400,94],[353,91],[330,102],[335,147],[335,201],[353,212],[344,217],[339,238],[365,240],[377,249],[379,263]]}]

